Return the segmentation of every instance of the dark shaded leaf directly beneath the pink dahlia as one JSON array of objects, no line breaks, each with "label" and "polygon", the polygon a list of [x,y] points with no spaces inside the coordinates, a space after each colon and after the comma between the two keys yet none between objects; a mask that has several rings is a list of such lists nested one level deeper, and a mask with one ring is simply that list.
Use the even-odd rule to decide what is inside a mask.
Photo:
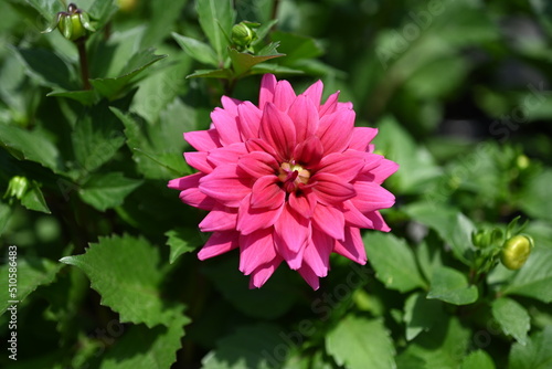
[{"label": "dark shaded leaf directly beneath the pink dahlia", "polygon": [[277,318],[294,306],[299,294],[293,284],[296,275],[279,270],[263,288],[250,289],[250,277],[238,271],[237,261],[232,257],[210,261],[204,272],[226,301],[251,317]]}]

